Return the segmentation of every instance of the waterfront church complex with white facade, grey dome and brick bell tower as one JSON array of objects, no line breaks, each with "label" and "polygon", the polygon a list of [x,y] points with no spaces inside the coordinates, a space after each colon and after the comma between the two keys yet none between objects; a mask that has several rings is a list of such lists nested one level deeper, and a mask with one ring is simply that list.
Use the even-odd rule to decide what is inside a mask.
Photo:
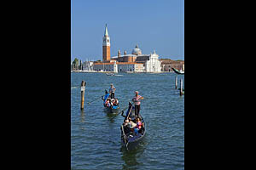
[{"label": "waterfront church complex with white facade, grey dome and brick bell tower", "polygon": [[118,50],[117,56],[110,56],[110,37],[108,35],[107,25],[102,43],[102,62],[95,62],[93,66],[95,71],[113,71],[113,72],[160,72],[161,61],[159,55],[143,54],[142,50],[136,45],[131,54],[121,55]]}]

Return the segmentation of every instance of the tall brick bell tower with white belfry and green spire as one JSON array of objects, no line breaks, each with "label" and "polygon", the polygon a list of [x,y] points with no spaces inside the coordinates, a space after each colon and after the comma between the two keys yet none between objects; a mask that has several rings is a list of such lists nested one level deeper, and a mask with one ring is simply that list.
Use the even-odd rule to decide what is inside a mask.
[{"label": "tall brick bell tower with white belfry and green spire", "polygon": [[102,62],[110,61],[110,38],[108,37],[107,24],[105,27],[103,43],[102,43]]}]

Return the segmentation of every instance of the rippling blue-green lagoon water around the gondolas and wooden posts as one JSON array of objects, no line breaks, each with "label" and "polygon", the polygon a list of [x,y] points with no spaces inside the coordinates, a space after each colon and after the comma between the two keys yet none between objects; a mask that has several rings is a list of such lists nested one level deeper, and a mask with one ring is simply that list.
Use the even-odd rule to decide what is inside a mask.
[{"label": "rippling blue-green lagoon water around the gondolas and wooden posts", "polygon": [[[184,95],[174,88],[174,73],[71,73],[71,167],[75,169],[184,169]],[[84,111],[80,111],[80,83],[86,83]],[[104,112],[102,100],[113,83],[121,111],[139,91],[147,133],[135,150],[121,145],[122,116]],[[178,83],[179,84],[179,83]],[[179,87],[178,87],[179,88]]]}]

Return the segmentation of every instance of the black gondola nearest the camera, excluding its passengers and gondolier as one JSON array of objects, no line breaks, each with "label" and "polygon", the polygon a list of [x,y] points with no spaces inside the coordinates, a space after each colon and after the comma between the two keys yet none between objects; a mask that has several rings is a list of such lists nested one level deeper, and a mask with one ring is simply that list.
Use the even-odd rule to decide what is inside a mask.
[{"label": "black gondola nearest the camera, excluding its passengers and gondolier", "polygon": [[[131,120],[136,119],[134,107],[132,107],[131,114],[129,115],[129,117],[131,117]],[[139,114],[139,117],[143,122],[143,127],[138,131],[138,134],[132,132],[130,127],[125,127],[124,124],[122,124],[120,127],[122,145],[124,147],[126,147],[127,150],[134,149],[137,146],[137,144],[139,144],[140,141],[143,140],[143,138],[146,134],[146,126],[145,126],[145,122],[143,120],[143,116],[141,114]],[[125,119],[126,119],[126,116],[125,116]],[[124,120],[124,122],[125,122],[125,120]]]}]

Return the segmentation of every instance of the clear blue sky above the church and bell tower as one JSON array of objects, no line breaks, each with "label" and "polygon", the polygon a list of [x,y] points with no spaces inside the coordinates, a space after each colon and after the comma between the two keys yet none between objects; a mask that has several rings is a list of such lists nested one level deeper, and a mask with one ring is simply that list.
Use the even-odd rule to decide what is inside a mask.
[{"label": "clear blue sky above the church and bell tower", "polygon": [[138,45],[143,54],[184,59],[184,0],[71,0],[71,59],[102,59],[105,25],[111,56]]}]

